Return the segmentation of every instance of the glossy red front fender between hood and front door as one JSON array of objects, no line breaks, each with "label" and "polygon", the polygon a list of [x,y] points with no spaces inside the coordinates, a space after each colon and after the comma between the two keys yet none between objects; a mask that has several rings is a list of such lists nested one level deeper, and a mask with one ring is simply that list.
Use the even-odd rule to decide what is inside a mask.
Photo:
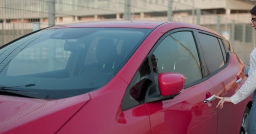
[{"label": "glossy red front fender between hood and front door", "polygon": [[86,104],[60,131],[60,134],[150,134],[150,124],[144,105],[121,110],[121,101],[128,84],[115,77],[109,84],[90,93]]}]

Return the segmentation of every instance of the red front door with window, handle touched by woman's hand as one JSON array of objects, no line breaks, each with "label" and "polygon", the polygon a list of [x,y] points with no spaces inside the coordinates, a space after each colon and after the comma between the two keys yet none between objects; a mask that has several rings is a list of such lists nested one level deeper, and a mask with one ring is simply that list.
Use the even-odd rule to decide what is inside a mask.
[{"label": "red front door with window, handle touched by woman's hand", "polygon": [[216,134],[217,102],[203,103],[216,90],[203,78],[199,50],[194,32],[179,29],[166,33],[149,53],[158,61],[154,65],[149,60],[151,70],[157,67],[152,72],[178,72],[186,79],[184,90],[173,99],[146,103],[152,134]]}]

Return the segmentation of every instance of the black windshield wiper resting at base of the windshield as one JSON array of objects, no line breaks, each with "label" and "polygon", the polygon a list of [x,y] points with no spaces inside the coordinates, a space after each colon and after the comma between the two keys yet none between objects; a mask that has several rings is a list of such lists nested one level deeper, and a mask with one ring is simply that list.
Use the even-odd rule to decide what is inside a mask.
[{"label": "black windshield wiper resting at base of the windshield", "polygon": [[0,95],[14,95],[14,96],[20,96],[20,97],[28,97],[28,98],[48,98],[49,95],[43,95],[39,93],[24,91],[24,90],[16,90],[11,88],[16,87],[32,87],[35,86],[35,84],[28,84],[23,86],[12,86],[12,87],[0,87]]}]

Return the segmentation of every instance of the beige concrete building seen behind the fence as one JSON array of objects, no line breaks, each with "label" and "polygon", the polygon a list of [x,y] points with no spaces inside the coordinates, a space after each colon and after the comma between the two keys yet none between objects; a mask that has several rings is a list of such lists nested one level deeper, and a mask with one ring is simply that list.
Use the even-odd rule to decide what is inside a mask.
[{"label": "beige concrete building seen behind the fence", "polygon": [[[124,18],[125,0],[55,0],[55,2],[56,24]],[[170,3],[176,18],[196,15],[196,9],[200,9],[201,15],[226,15],[237,21],[245,20],[243,17],[247,18],[248,10],[253,7],[249,0],[131,0],[131,18],[167,20]],[[0,0],[0,23],[47,23],[50,13],[48,5],[49,2],[45,0]]]}]

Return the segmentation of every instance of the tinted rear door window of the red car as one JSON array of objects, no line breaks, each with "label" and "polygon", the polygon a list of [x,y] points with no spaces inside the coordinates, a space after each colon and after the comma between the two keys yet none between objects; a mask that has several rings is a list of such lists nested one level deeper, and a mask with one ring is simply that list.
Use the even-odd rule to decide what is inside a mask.
[{"label": "tinted rear door window of the red car", "polygon": [[216,37],[204,33],[198,33],[206,64],[205,76],[224,66],[224,59],[219,41]]}]

